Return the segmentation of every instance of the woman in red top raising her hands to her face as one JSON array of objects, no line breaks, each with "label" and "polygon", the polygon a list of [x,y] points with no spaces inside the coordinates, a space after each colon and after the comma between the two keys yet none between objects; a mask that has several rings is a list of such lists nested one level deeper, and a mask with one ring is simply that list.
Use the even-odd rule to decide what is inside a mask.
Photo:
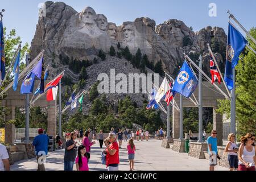
[{"label": "woman in red top raising her hands to her face", "polygon": [[[109,144],[110,142],[110,144]],[[106,166],[108,171],[118,171],[119,166],[119,147],[115,135],[109,134],[109,137],[104,140],[106,146]]]}]

